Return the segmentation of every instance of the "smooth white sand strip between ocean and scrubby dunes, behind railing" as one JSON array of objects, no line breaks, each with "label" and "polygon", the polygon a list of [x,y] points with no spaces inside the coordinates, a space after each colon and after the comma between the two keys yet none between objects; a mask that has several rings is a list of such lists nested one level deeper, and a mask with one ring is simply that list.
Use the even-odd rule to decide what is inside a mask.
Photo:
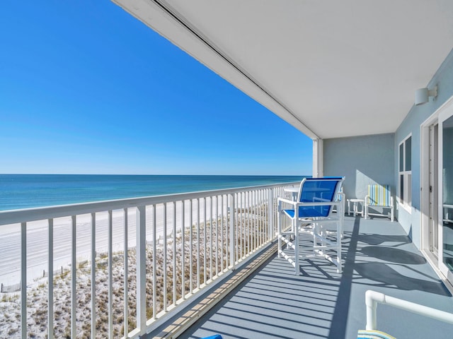
[{"label": "smooth white sand strip between ocean and scrubby dunes, behind railing", "polygon": [[[176,230],[181,230],[183,225],[180,217],[182,203],[176,203]],[[206,208],[200,203],[200,208],[193,203],[192,220],[190,209],[185,206],[184,225],[188,227],[198,221],[204,222],[217,218],[220,208],[217,207],[216,199],[213,199],[211,210],[210,198],[207,198]],[[200,211],[200,212],[199,212]],[[226,213],[226,201],[224,201],[224,213]],[[153,234],[153,210],[147,208],[147,242],[152,242]],[[130,248],[136,246],[136,215],[135,209],[128,210],[128,234],[127,242]],[[164,225],[164,205],[156,206],[156,235],[164,236],[164,226],[167,236],[173,232],[173,203],[166,206],[166,225]],[[48,250],[48,222],[39,220],[28,222],[27,225],[27,281],[33,282],[36,278],[47,271]],[[54,270],[61,267],[67,268],[71,262],[71,217],[56,218],[54,220]],[[88,260],[91,257],[91,215],[77,215],[76,217],[76,258],[77,261]],[[113,211],[113,251],[124,249],[124,213],[122,210]],[[96,251],[108,251],[108,213],[96,213]],[[21,280],[21,227],[16,225],[0,226],[0,283],[4,285],[18,284]]]}]

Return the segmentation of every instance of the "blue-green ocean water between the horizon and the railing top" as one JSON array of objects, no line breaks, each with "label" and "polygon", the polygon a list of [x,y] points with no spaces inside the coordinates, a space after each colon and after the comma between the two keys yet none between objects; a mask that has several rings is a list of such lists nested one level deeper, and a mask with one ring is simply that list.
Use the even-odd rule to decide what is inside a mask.
[{"label": "blue-green ocean water between the horizon and the railing top", "polygon": [[229,189],[304,176],[0,174],[0,210]]}]

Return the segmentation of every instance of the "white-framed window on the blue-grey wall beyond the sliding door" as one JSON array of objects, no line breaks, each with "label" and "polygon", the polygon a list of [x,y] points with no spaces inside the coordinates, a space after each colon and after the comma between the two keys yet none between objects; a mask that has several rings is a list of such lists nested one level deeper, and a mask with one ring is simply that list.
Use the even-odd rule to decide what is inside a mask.
[{"label": "white-framed window on the blue-grey wall beyond the sliding door", "polygon": [[399,202],[406,208],[412,205],[412,136],[399,145]]}]

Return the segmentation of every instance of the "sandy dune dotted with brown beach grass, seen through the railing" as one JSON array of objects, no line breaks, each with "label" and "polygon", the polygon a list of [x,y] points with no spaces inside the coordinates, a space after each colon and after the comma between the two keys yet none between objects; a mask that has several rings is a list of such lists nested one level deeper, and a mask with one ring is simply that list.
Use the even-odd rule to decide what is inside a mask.
[{"label": "sandy dune dotted with brown beach grass, seen through the railing", "polygon": [[[238,210],[240,218],[236,220],[236,246],[239,256],[251,251],[262,239],[262,232],[267,222],[253,221],[252,210]],[[223,221],[223,222],[222,222]],[[184,294],[195,290],[206,281],[213,280],[222,269],[229,265],[229,246],[225,239],[229,237],[229,220],[212,220],[212,222],[193,225],[192,232],[186,228],[184,232],[172,234],[165,242],[156,242],[154,258],[152,244],[147,245],[147,319],[162,314],[166,307],[181,302]],[[190,242],[190,234],[192,242]],[[224,239],[221,243],[220,239]],[[173,244],[173,242],[176,242]],[[183,272],[183,243],[184,263]],[[165,244],[165,248],[164,248]],[[173,247],[176,252],[173,253]],[[165,249],[165,251],[164,251]],[[166,252],[166,254],[164,254]],[[236,256],[236,254],[234,254]],[[175,257],[176,256],[176,257]],[[192,280],[190,280],[190,256],[192,258]],[[136,251],[127,251],[127,323],[129,331],[136,326]],[[222,259],[223,258],[223,259]],[[222,262],[223,261],[223,262]],[[173,279],[173,264],[176,262]],[[156,281],[154,281],[156,269]],[[124,251],[113,254],[112,263],[113,293],[113,334],[124,335],[125,319],[125,265]],[[183,279],[184,275],[184,279]],[[164,283],[164,277],[166,277]],[[184,281],[184,286],[183,286]],[[176,286],[173,286],[173,282]],[[53,277],[54,283],[54,331],[56,338],[70,338],[71,328],[71,271],[64,270]],[[176,293],[173,292],[176,287]],[[184,287],[184,288],[183,288]],[[30,338],[46,338],[47,336],[47,278],[40,279],[27,292],[28,303],[28,334]],[[154,300],[156,295],[156,300]],[[166,302],[165,302],[166,300]],[[76,328],[77,338],[91,337],[91,263],[80,261],[76,268]],[[0,301],[0,337],[14,338],[20,333],[20,300],[17,294],[4,295]],[[108,336],[108,256],[96,256],[96,338]]]}]

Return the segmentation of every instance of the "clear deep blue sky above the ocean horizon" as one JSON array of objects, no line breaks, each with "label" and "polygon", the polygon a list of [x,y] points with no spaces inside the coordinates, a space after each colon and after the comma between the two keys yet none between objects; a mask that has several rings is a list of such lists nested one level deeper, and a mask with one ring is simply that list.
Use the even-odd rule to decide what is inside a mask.
[{"label": "clear deep blue sky above the ocean horizon", "polygon": [[311,174],[308,137],[110,1],[1,1],[0,42],[0,173]]}]

